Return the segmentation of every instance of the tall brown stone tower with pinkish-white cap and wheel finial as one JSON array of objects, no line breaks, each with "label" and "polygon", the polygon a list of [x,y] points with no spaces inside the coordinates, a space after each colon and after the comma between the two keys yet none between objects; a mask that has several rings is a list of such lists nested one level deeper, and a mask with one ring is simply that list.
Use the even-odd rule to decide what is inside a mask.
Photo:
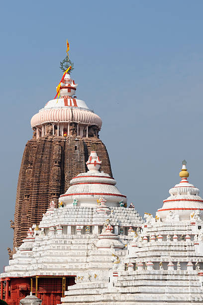
[{"label": "tall brown stone tower with pinkish-white cap and wheel finial", "polygon": [[101,170],[112,176],[108,153],[99,139],[102,120],[75,96],[77,84],[70,76],[71,62],[66,58],[65,63],[57,87],[60,98],[57,94],[58,99],[46,103],[31,119],[33,138],[22,156],[14,223],[11,221],[13,247],[21,244],[33,223],[39,223],[51,200],[58,204],[58,197],[66,192],[70,180],[87,171],[91,151],[98,152],[103,160]]}]

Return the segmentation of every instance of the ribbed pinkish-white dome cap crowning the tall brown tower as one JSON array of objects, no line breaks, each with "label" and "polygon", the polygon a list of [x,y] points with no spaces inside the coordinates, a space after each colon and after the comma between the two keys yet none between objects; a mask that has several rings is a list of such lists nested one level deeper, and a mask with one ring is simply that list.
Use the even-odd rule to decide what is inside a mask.
[{"label": "ribbed pinkish-white dome cap crowning the tall brown tower", "polygon": [[91,126],[96,128],[96,134],[101,130],[101,118],[90,110],[83,100],[73,96],[76,87],[75,81],[66,73],[64,83],[61,83],[61,97],[47,102],[31,119],[31,127],[36,129],[37,138],[47,133],[57,136],[72,135],[70,124],[77,125],[77,136],[81,137],[83,132],[88,136]]}]

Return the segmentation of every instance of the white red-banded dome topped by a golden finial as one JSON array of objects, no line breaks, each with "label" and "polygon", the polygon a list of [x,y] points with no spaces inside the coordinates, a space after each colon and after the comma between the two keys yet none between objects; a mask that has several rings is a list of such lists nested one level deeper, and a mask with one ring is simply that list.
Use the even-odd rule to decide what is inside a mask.
[{"label": "white red-banded dome topped by a golden finial", "polygon": [[189,172],[185,160],[179,175],[182,177],[180,183],[169,190],[170,196],[163,201],[163,207],[157,211],[162,221],[166,220],[170,211],[178,214],[180,220],[190,220],[192,212],[203,210],[203,199],[199,196],[199,189],[187,180]]}]

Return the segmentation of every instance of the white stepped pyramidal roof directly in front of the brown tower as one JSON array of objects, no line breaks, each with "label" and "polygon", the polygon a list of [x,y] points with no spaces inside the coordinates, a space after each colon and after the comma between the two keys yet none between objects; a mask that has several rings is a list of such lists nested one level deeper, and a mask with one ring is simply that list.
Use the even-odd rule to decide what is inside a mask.
[{"label": "white stepped pyramidal roof directly in front of the brown tower", "polygon": [[[61,287],[60,279],[65,281],[63,290],[68,290],[70,285],[75,283],[75,278],[77,283],[81,283],[86,278],[90,282],[98,282],[102,277],[102,285],[107,286],[106,273],[117,266],[115,262],[119,261],[120,257],[124,258],[127,253],[126,246],[132,240],[131,235],[137,228],[141,228],[143,220],[134,207],[126,207],[126,197],[114,186],[115,180],[99,171],[101,163],[97,152],[92,151],[87,161],[87,177],[85,174],[79,174],[78,180],[73,179],[85,181],[84,183],[88,181],[88,185],[91,184],[92,178],[98,179],[99,189],[98,184],[93,184],[91,191],[96,193],[97,189],[100,194],[88,197],[86,194],[81,195],[79,184],[79,191],[75,191],[71,201],[69,196],[64,201],[61,200],[63,197],[60,197],[59,206],[56,208],[52,200],[39,225],[35,224],[29,228],[27,237],[20,247],[15,249],[16,253],[9,260],[9,266],[6,266],[5,272],[0,275],[1,282],[6,281],[6,287],[9,285],[12,293],[23,286],[25,293],[30,290],[32,293],[37,292],[37,296],[43,296],[45,302],[50,300],[46,299],[46,289],[49,285]],[[103,179],[110,181],[112,194],[105,193]],[[73,184],[69,189],[72,187]],[[70,193],[69,189],[67,194]],[[122,200],[119,202],[120,199]],[[30,279],[33,279],[32,285]],[[44,284],[44,281],[54,279],[59,282]],[[57,298],[59,295],[56,293]],[[45,304],[50,304],[49,302],[46,301]],[[58,304],[60,298],[58,303],[56,302],[57,299],[53,304]]]}]

